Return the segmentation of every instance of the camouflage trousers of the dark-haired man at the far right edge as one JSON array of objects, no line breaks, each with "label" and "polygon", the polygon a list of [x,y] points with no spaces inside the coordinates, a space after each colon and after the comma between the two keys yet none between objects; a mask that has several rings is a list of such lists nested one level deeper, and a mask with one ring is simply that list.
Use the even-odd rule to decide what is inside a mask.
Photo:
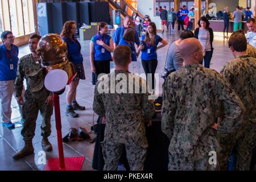
[{"label": "camouflage trousers of the dark-haired man at the far right edge", "polygon": [[249,171],[251,156],[255,148],[256,140],[256,126],[254,123],[248,122],[245,133],[236,144],[236,170]]}]

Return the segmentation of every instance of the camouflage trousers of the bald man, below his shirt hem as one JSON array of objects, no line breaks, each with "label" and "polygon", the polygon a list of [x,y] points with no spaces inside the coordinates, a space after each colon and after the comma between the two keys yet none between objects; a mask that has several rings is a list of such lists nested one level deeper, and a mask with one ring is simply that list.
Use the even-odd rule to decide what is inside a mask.
[{"label": "camouflage trousers of the bald man, below his shirt hem", "polygon": [[[218,162],[217,162],[218,164]],[[193,161],[191,159],[179,159],[169,153],[169,171],[215,171],[217,165],[209,164],[209,156],[205,155],[203,159]]]}]

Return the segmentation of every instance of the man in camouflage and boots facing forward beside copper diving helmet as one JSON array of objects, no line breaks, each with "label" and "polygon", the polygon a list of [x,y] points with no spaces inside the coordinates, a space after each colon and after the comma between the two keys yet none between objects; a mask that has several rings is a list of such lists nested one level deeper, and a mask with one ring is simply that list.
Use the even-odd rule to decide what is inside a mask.
[{"label": "man in camouflage and boots facing forward beside copper diving helmet", "polygon": [[[38,111],[42,116],[42,147],[45,151],[51,151],[52,146],[48,141],[51,135],[51,115],[53,111],[53,98],[51,93],[44,86],[44,77],[46,76],[46,68],[43,68],[37,63],[39,57],[35,53],[38,41],[41,38],[39,35],[32,35],[28,40],[32,53],[23,56],[19,60],[18,74],[15,81],[15,93],[18,97],[18,102],[22,106],[22,115],[24,119],[23,136],[25,146],[21,151],[17,152],[13,158],[20,159],[34,152],[32,146],[32,138],[35,135],[36,119]],[[23,80],[26,78],[27,89],[25,92],[25,100],[21,97]]]}]

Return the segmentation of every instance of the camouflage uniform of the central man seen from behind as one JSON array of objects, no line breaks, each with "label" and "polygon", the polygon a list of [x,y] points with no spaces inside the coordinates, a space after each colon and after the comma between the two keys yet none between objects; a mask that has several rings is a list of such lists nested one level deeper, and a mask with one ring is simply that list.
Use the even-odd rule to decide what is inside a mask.
[{"label": "camouflage uniform of the central man seen from behind", "polygon": [[[118,73],[127,76],[127,71],[114,71],[103,78],[114,78]],[[137,77],[134,75],[134,77]],[[131,170],[143,170],[148,147],[143,121],[151,119],[154,115],[154,104],[148,100],[148,94],[142,93],[142,85],[146,82],[139,78],[140,93],[98,93],[98,86],[102,86],[102,80],[96,84],[94,92],[93,110],[96,114],[106,117],[105,138],[102,142],[102,152],[105,159],[104,170],[116,170],[124,145]],[[115,85],[119,81],[115,81]],[[128,79],[127,79],[128,82]],[[128,86],[127,86],[128,87]],[[128,90],[128,88],[127,88]]]}]

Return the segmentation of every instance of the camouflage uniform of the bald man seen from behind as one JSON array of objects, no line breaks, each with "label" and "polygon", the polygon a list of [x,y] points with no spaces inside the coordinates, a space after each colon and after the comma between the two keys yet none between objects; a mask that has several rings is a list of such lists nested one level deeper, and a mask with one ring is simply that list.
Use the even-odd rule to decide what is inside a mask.
[{"label": "camouflage uniform of the bald man seen from behind", "polygon": [[[225,121],[220,138],[241,126],[243,105],[227,81],[213,69],[186,65],[171,73],[163,85],[162,130],[170,139],[169,170],[216,170],[219,152],[217,131],[212,128],[218,102],[225,102]],[[210,165],[209,152],[217,154]]]}]

